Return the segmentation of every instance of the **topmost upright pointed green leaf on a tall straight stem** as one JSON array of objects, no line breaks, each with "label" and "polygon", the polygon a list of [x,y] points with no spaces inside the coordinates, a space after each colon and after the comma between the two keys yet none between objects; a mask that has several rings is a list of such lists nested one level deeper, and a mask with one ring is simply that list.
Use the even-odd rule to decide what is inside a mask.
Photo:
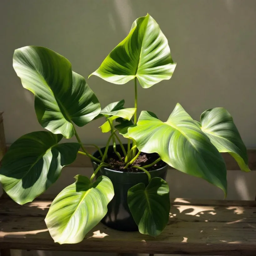
[{"label": "topmost upright pointed green leaf on a tall straight stem", "polygon": [[175,67],[166,37],[147,14],[133,22],[128,36],[91,75],[115,84],[124,84],[137,77],[143,88],[149,88],[170,79]]}]

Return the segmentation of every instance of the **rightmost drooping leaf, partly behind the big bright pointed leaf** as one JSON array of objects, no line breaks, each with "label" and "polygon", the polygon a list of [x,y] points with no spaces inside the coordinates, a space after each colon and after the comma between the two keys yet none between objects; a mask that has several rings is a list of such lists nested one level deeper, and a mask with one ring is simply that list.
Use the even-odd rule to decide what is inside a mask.
[{"label": "rightmost drooping leaf, partly behind the big bright pointed leaf", "polygon": [[233,118],[225,108],[208,109],[201,115],[201,129],[219,152],[228,152],[239,167],[249,172],[247,150]]}]

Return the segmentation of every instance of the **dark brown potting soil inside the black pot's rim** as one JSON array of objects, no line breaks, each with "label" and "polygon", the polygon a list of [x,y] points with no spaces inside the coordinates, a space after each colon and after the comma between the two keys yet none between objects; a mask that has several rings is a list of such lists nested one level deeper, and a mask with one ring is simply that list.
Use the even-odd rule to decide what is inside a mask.
[{"label": "dark brown potting soil inside the black pot's rim", "polygon": [[[133,165],[137,165],[139,167],[143,167],[145,165],[153,163],[156,159],[159,158],[159,155],[157,153],[140,153],[138,158],[134,161],[133,164],[131,164],[127,169],[124,169],[125,163],[124,163],[124,157],[122,157],[123,161],[120,161],[118,159],[118,156],[112,152],[108,153],[108,159],[105,160],[106,163],[109,163],[111,166],[108,167],[110,169],[116,170],[116,171],[121,171],[121,172],[128,172],[128,173],[141,173],[143,172],[142,170],[132,168]],[[162,168],[166,163],[164,163],[162,160],[156,163],[155,165],[147,168],[147,171],[153,171],[159,168]]]}]

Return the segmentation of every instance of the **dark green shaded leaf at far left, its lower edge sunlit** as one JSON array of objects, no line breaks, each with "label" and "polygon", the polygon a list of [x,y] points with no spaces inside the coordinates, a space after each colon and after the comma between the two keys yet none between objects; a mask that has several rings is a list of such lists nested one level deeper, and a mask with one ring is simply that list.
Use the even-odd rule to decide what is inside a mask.
[{"label": "dark green shaded leaf at far left, its lower edge sunlit", "polygon": [[17,203],[33,201],[60,176],[61,169],[74,162],[78,143],[58,142],[61,134],[33,132],[18,138],[3,158],[0,182]]}]

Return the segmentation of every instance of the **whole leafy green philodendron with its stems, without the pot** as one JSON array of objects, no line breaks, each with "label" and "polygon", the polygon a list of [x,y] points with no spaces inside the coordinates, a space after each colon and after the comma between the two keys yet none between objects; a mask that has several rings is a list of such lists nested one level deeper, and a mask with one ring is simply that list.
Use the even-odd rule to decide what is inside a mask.
[{"label": "whole leafy green philodendron with its stems, without the pot", "polygon": [[[123,162],[123,171],[133,168],[148,175],[147,186],[139,183],[129,189],[128,206],[139,232],[151,236],[159,235],[165,228],[170,200],[168,184],[162,178],[151,178],[148,168],[163,161],[221,188],[225,196],[227,171],[220,152],[230,153],[243,171],[250,171],[246,147],[224,108],[206,110],[200,121],[193,120],[180,104],[167,121],[149,111],[142,111],[137,119],[137,80],[143,88],[149,88],[170,79],[175,67],[167,38],[156,21],[150,15],[138,18],[128,36],[91,74],[115,84],[133,80],[134,108],[124,108],[122,100],[101,109],[85,79],[72,71],[66,58],[37,46],[15,50],[13,68],[23,87],[35,95],[36,116],[47,131],[25,134],[11,145],[0,170],[5,192],[19,204],[28,203],[51,186],[77,154],[99,164],[91,178],[75,176],[75,182],[53,200],[45,222],[55,242],[82,241],[107,213],[114,196],[113,184],[106,176],[93,180],[101,168],[111,168],[111,153]],[[110,136],[104,152],[98,148],[100,157],[95,158],[83,147],[76,126],[98,118],[105,119],[100,128]],[[127,138],[127,147],[118,133]],[[61,143],[62,138],[73,136],[78,143]],[[113,152],[109,152],[110,143]],[[158,158],[144,166],[135,165],[141,153],[157,153]]]}]

